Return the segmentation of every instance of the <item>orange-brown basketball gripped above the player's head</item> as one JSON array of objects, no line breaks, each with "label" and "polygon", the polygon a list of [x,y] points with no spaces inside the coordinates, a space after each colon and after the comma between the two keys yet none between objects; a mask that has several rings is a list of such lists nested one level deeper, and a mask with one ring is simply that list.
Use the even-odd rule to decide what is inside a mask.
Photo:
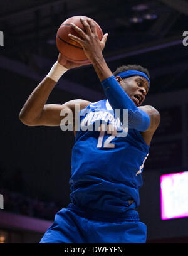
[{"label": "orange-brown basketball gripped above the player's head", "polygon": [[[74,36],[80,37],[80,35],[78,35],[78,33],[76,33],[76,31],[71,28],[71,23],[74,23],[76,26],[85,31],[85,28],[80,21],[81,17],[84,19],[91,19],[86,16],[73,16],[71,18],[68,18],[61,24],[56,34],[56,46],[58,48],[58,51],[60,51],[60,53],[66,58],[66,60],[70,60],[74,63],[89,62],[80,43],[71,40],[68,36],[68,34],[71,33]],[[99,40],[102,40],[102,29],[96,21],[94,21],[93,19],[91,20],[95,23]]]}]

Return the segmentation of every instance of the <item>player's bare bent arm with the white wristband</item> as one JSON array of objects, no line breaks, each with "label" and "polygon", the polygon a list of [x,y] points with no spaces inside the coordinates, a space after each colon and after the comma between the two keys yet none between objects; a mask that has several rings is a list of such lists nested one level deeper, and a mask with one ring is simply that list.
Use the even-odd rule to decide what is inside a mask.
[{"label": "player's bare bent arm with the white wristband", "polygon": [[21,122],[28,126],[59,126],[63,119],[63,116],[60,115],[61,110],[64,110],[64,113],[72,112],[74,117],[75,104],[80,104],[80,110],[90,104],[87,100],[80,99],[70,100],[63,105],[46,104],[51,91],[61,75],[63,75],[66,70],[79,66],[78,64],[63,59],[63,57],[59,55],[58,61],[53,65],[51,71],[33,90],[28,100],[26,100],[19,114]]}]

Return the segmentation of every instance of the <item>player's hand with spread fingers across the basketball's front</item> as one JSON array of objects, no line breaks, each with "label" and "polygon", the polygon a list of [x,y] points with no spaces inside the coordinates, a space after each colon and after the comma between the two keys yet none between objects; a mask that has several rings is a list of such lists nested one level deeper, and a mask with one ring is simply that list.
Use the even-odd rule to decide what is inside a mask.
[{"label": "player's hand with spread fingers across the basketball's front", "polygon": [[71,38],[71,40],[75,40],[77,43],[80,43],[80,45],[83,47],[83,50],[85,51],[85,55],[91,62],[93,62],[96,58],[101,58],[108,34],[106,33],[103,35],[103,38],[100,41],[97,35],[97,29],[93,21],[91,19],[83,18],[80,20],[85,27],[86,33],[82,29],[78,28],[78,26],[71,23],[71,27],[81,36],[81,38],[78,38],[72,34],[69,34],[68,36]]}]

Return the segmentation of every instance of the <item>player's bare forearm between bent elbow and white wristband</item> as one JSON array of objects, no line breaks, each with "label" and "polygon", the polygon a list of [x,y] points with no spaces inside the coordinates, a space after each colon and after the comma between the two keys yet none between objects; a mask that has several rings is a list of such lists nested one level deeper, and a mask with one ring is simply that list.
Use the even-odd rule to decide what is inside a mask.
[{"label": "player's bare forearm between bent elbow and white wristband", "polygon": [[55,85],[56,82],[49,77],[45,77],[39,83],[21,109],[19,114],[21,122],[24,124],[32,124],[34,120],[39,118]]}]

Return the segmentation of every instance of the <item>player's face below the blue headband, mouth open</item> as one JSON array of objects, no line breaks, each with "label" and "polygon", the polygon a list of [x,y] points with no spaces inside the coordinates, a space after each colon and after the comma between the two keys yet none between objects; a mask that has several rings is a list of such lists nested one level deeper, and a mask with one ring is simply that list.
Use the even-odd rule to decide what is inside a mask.
[{"label": "player's face below the blue headband, mouth open", "polygon": [[124,79],[116,77],[116,79],[134,104],[137,107],[142,105],[145,100],[145,95],[147,95],[149,90],[149,82],[147,79],[145,77],[140,77],[140,75],[134,75]]}]

